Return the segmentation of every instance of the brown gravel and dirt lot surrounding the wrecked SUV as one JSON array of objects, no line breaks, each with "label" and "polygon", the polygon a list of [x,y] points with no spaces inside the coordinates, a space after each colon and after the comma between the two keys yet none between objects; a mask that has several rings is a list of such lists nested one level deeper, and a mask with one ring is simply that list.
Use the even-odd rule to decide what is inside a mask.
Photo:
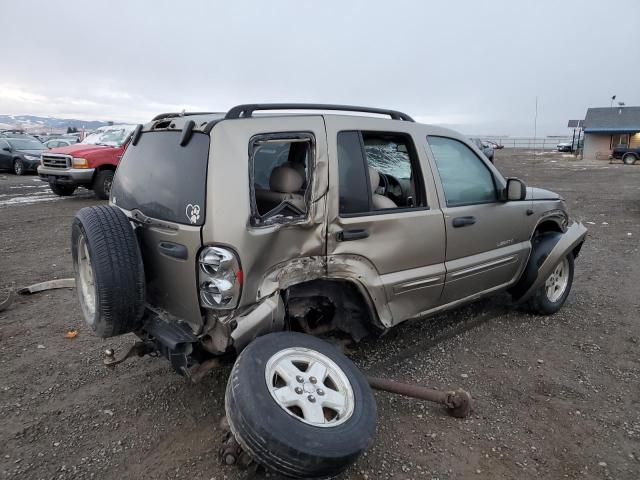
[{"label": "brown gravel and dirt lot surrounding the wrecked SUV", "polygon": [[[640,478],[640,165],[496,156],[589,228],[568,303],[544,318],[497,296],[361,343],[367,371],[461,386],[476,410],[376,393],[376,443],[343,478]],[[97,202],[47,192],[0,173],[0,289],[72,274],[71,220]],[[229,369],[190,386],[160,359],[101,365],[132,341],[93,336],[73,290],[0,313],[0,478],[246,477],[216,456]]]}]

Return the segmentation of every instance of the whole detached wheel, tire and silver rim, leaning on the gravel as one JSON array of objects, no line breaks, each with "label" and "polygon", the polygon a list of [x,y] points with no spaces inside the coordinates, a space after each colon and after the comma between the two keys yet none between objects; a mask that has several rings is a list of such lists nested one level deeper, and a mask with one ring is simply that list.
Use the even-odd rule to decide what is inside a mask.
[{"label": "whole detached wheel, tire and silver rim, leaning on the gravel", "polygon": [[249,456],[289,477],[336,475],[375,436],[376,404],[364,375],[334,346],[301,333],[250,343],[231,371],[225,407]]}]

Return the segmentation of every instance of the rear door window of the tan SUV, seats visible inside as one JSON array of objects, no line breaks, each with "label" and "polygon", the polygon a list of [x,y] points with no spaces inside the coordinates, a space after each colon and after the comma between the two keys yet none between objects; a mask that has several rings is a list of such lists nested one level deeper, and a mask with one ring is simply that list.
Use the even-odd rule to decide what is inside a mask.
[{"label": "rear door window of the tan SUV, seats visible inside", "polygon": [[425,205],[418,157],[411,138],[401,133],[338,133],[340,214]]}]

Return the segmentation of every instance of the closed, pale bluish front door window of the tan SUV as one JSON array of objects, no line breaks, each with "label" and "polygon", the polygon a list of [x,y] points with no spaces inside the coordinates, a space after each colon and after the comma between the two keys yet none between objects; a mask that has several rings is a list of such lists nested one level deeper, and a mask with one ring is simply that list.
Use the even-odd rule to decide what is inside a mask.
[{"label": "closed, pale bluish front door window of the tan SUV", "polygon": [[464,143],[447,137],[427,137],[438,167],[448,207],[497,201],[493,175]]}]

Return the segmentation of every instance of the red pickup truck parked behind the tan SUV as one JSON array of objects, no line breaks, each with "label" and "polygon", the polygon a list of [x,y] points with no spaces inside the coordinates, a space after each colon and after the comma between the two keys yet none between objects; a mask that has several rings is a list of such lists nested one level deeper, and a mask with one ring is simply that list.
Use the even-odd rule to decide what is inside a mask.
[{"label": "red pickup truck parked behind the tan SUV", "polygon": [[56,195],[72,195],[76,188],[82,186],[106,200],[111,193],[113,175],[135,127],[100,127],[82,143],[43,152],[38,175],[49,182]]}]

